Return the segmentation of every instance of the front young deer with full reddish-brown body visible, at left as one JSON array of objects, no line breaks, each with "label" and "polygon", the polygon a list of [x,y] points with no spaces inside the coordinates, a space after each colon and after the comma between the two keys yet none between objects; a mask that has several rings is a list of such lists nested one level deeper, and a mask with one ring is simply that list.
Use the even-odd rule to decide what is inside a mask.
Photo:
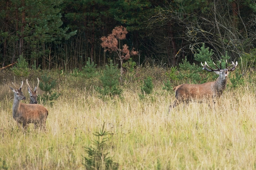
[{"label": "front young deer with full reddish-brown body visible, at left", "polygon": [[9,86],[14,92],[12,106],[12,116],[14,120],[16,120],[19,128],[21,124],[23,129],[25,129],[28,123],[34,123],[35,128],[40,126],[40,128],[45,129],[46,118],[48,116],[47,109],[40,104],[24,104],[20,102],[20,100],[26,100],[22,92],[22,86],[23,82],[19,88],[14,85],[16,89]]}]

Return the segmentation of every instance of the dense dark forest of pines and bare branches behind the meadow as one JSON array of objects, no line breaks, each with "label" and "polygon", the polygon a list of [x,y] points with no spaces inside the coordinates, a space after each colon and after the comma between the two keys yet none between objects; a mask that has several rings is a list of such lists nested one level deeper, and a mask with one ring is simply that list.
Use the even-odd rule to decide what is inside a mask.
[{"label": "dense dark forest of pines and bare branches behind the meadow", "polygon": [[214,60],[256,54],[255,0],[0,0],[0,9],[1,67],[22,54],[43,69],[81,69],[88,58],[118,64],[100,39],[116,26],[127,28],[120,44],[139,52],[137,65],[194,62],[203,43]]}]

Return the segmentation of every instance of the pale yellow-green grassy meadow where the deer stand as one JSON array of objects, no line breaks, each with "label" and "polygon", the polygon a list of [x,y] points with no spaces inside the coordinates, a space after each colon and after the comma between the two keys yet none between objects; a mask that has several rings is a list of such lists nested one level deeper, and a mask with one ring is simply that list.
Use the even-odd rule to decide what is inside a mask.
[{"label": "pale yellow-green grassy meadow where the deer stand", "polygon": [[[143,100],[138,80],[123,85],[122,97],[99,98],[93,87],[97,80],[52,72],[61,96],[52,106],[45,105],[47,130],[34,130],[31,124],[25,133],[12,117],[13,92],[8,85],[14,76],[4,74],[0,169],[85,169],[84,147],[92,146],[104,122],[110,133],[106,151],[120,170],[256,169],[256,87],[248,78],[255,73],[245,75],[243,86],[227,87],[214,105],[191,102],[168,113],[174,92],[162,89],[164,71],[140,72],[138,77],[152,73],[154,78],[153,93]],[[34,87],[39,73],[30,76]],[[17,86],[22,80],[26,78],[15,78]],[[27,97],[23,103],[28,103],[26,84],[23,92]]]}]

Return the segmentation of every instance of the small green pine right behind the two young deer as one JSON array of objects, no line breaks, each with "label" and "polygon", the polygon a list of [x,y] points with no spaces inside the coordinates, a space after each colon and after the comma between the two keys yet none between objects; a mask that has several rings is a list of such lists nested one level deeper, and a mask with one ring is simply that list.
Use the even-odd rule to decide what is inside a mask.
[{"label": "small green pine right behind the two young deer", "polygon": [[60,94],[57,92],[52,92],[52,89],[56,85],[56,80],[53,80],[50,82],[51,76],[47,77],[47,75],[41,76],[42,80],[39,83],[39,88],[44,91],[43,96],[38,95],[38,101],[41,101],[43,103],[47,103],[49,101],[49,104],[52,105],[52,101],[56,100]]}]

